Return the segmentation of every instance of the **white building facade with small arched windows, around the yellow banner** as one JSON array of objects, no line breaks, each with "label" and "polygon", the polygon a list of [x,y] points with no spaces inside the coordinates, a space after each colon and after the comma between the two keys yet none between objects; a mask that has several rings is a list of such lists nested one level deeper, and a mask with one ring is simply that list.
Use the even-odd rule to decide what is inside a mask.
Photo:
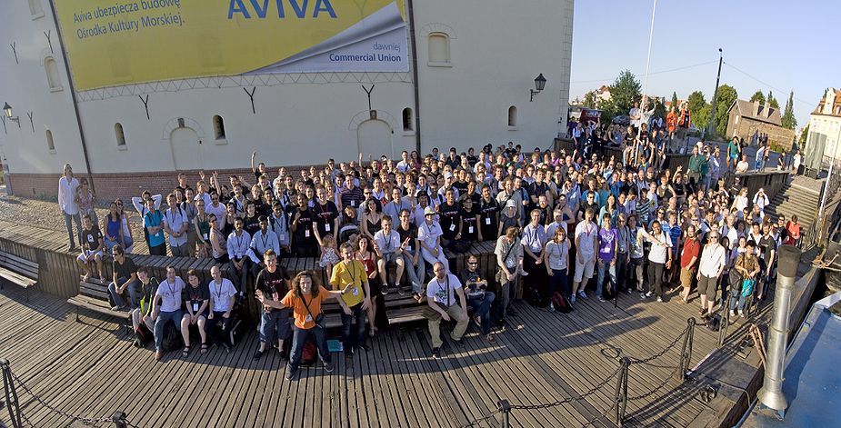
[{"label": "white building facade with small arched windows, around the yellow banner", "polygon": [[[59,39],[51,2],[9,2],[0,16],[0,38],[14,45],[0,55],[0,103],[17,117],[4,120],[0,154],[15,194],[55,194],[65,163],[89,172],[101,196],[125,195],[110,188],[247,168],[253,150],[267,165],[294,167],[360,152],[399,157],[508,141],[548,148],[566,126],[573,0],[405,0],[407,45],[416,46],[408,58],[417,65],[407,72],[220,76],[85,91],[71,85],[67,70],[81,65],[72,57],[65,64],[68,35]],[[132,54],[111,61],[123,55]],[[546,90],[529,101],[539,74]]]}]

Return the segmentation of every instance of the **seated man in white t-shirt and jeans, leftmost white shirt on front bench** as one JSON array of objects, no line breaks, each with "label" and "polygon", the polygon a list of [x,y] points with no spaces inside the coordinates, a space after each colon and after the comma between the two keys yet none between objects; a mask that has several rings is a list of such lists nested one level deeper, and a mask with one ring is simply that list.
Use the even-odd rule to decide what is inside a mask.
[{"label": "seated man in white t-shirt and jeans, leftmost white shirt on front bench", "polygon": [[155,322],[155,361],[161,361],[164,350],[164,326],[172,321],[176,329],[181,330],[185,347],[182,353],[186,356],[190,352],[190,323],[182,322],[184,313],[181,310],[181,293],[184,291],[184,281],[175,276],[173,266],[166,267],[166,280],[157,286],[155,298],[152,300],[152,321]]}]

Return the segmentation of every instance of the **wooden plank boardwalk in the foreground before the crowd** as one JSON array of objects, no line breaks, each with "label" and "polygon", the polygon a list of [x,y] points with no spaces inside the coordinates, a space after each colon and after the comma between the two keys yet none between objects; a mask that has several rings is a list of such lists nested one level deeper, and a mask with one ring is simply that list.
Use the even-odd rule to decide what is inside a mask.
[{"label": "wooden plank boardwalk in the foreground before the crowd", "polygon": [[[167,353],[155,363],[149,349],[131,345],[117,320],[83,313],[76,323],[64,299],[36,292],[26,303],[22,291],[8,285],[0,294],[0,358],[55,408],[92,418],[120,410],[138,427],[461,426],[495,410],[500,399],[538,404],[586,393],[616,371],[617,354],[642,359],[660,352],[697,314],[696,295],[689,305],[672,295],[662,304],[622,295],[617,308],[590,298],[566,315],[517,304],[519,315],[495,344],[484,343],[471,325],[466,346],[446,344],[439,360],[428,357],[426,325],[410,324],[405,333],[378,334],[369,352],[352,359],[334,353],[335,373],[316,363],[289,382],[277,353],[252,361],[253,328],[231,353],[214,348],[201,355],[194,348],[186,358]],[[741,337],[744,324],[731,325],[730,334]],[[717,340],[703,326],[694,338],[690,366]],[[675,372],[679,347],[631,366],[628,395],[645,398],[628,403],[626,426],[686,426],[709,411],[686,388],[665,382]],[[612,380],[573,403],[514,410],[512,426],[616,426],[606,412],[615,385]],[[34,426],[83,426],[18,393]],[[478,426],[500,420],[496,414]],[[0,422],[10,422],[5,409]]]}]

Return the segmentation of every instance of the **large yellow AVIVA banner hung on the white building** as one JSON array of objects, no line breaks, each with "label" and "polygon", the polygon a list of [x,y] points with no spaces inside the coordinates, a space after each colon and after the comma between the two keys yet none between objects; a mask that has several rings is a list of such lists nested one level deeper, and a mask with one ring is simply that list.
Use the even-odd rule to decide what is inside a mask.
[{"label": "large yellow AVIVA banner hung on the white building", "polygon": [[407,71],[403,0],[56,0],[77,90],[256,73]]}]

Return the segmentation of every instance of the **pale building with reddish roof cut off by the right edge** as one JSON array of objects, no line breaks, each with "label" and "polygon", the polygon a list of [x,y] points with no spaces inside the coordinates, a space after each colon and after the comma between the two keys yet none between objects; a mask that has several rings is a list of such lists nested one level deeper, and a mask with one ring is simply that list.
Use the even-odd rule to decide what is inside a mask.
[{"label": "pale building with reddish roof cut off by the right edge", "polygon": [[809,115],[809,134],[806,135],[806,164],[813,168],[812,159],[829,160],[841,154],[838,134],[841,132],[841,90],[829,88]]}]

